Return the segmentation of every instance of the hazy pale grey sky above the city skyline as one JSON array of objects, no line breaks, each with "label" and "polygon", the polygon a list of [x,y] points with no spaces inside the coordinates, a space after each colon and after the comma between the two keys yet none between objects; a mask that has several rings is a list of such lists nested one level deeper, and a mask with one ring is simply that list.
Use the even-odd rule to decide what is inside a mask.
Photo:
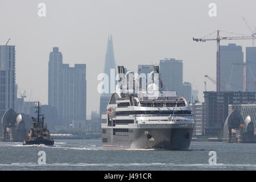
[{"label": "hazy pale grey sky above the city skyline", "polygon": [[[216,3],[217,17],[208,15]],[[46,17],[38,4],[46,4]],[[216,30],[250,35],[242,16],[256,26],[256,1],[234,0],[0,0],[0,44],[16,46],[16,83],[31,101],[48,102],[48,60],[59,47],[63,63],[86,64],[87,115],[99,110],[97,75],[104,70],[106,43],[112,34],[115,61],[137,71],[138,64],[159,64],[164,57],[183,60],[183,81],[199,90],[204,75],[216,78],[216,42],[196,43]],[[232,36],[232,34],[221,34]],[[214,34],[212,37],[215,37]],[[251,40],[222,41],[251,46]],[[207,80],[207,90],[216,86]]]}]

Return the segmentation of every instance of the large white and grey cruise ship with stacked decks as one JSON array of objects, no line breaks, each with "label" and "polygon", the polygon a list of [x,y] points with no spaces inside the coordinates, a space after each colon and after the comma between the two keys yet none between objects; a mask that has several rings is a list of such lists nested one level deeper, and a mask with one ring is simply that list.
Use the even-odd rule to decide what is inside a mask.
[{"label": "large white and grey cruise ship with stacked decks", "polygon": [[158,66],[147,78],[118,66],[115,90],[101,115],[102,147],[189,148],[194,125],[191,107],[175,91],[164,89]]}]

